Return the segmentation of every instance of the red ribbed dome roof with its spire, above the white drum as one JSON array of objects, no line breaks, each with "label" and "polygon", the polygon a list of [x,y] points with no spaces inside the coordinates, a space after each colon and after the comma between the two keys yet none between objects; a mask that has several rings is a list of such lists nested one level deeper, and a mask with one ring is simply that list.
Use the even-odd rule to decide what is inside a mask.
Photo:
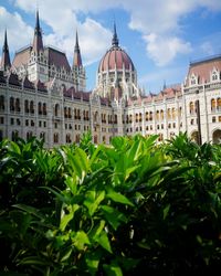
[{"label": "red ribbed dome roof with its spire, above the white drum", "polygon": [[98,73],[110,70],[130,70],[135,71],[134,64],[129,55],[118,45],[116,26],[114,24],[114,35],[112,47],[106,52],[99,62]]}]

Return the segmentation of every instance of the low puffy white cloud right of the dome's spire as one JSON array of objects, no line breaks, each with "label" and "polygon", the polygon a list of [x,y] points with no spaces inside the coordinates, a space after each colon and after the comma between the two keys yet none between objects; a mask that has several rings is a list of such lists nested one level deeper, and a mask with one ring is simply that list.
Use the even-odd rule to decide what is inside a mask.
[{"label": "low puffy white cloud right of the dome's spire", "polygon": [[147,53],[158,66],[165,66],[171,62],[177,54],[191,52],[189,42],[183,42],[176,36],[159,36],[156,33],[144,36],[147,42]]}]

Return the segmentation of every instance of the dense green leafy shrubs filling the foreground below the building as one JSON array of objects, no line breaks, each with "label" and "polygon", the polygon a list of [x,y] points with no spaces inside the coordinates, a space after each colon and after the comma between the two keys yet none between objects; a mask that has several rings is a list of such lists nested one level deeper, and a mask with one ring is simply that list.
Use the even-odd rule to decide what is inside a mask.
[{"label": "dense green leafy shrubs filling the foreground below the building", "polygon": [[221,261],[221,149],[180,134],[95,147],[0,144],[0,275],[209,275]]}]

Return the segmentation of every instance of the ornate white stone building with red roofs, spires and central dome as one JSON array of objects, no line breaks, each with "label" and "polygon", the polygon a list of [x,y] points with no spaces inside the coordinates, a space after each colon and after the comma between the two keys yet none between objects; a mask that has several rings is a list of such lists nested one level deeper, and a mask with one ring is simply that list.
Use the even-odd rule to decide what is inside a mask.
[{"label": "ornate white stone building with red roofs, spires and central dome", "polygon": [[12,63],[6,32],[0,64],[0,139],[36,136],[51,148],[78,142],[88,130],[96,144],[135,134],[157,134],[162,141],[180,131],[199,144],[219,144],[221,55],[190,63],[182,84],[146,96],[114,25],[96,86],[86,92],[77,33],[71,66],[65,53],[44,46],[39,12],[33,43],[19,50]]}]

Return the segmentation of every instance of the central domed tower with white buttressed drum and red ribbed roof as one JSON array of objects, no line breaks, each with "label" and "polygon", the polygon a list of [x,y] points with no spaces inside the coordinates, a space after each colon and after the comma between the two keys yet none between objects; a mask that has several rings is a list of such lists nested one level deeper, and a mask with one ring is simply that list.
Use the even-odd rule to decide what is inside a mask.
[{"label": "central domed tower with white buttressed drum and red ribbed roof", "polygon": [[119,46],[115,23],[112,45],[99,62],[95,92],[110,100],[139,96],[137,72],[129,55]]}]

